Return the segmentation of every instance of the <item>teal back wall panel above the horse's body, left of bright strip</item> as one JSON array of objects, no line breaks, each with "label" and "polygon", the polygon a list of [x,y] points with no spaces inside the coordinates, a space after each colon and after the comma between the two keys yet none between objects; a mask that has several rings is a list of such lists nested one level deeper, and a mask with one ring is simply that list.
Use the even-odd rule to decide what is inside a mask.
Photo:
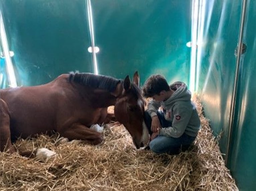
[{"label": "teal back wall panel above the horse's body, left of bright strip", "polygon": [[1,10],[18,85],[92,72],[84,0],[1,0]]}]

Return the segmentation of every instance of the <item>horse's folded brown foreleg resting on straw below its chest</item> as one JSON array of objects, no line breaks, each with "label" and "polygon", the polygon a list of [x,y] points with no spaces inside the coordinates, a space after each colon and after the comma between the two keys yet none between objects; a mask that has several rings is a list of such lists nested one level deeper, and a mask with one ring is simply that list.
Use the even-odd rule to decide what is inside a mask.
[{"label": "horse's folded brown foreleg resting on straw below its chest", "polygon": [[69,140],[83,140],[84,143],[96,145],[103,141],[102,134],[82,125],[80,123],[74,123],[68,128],[62,128],[65,130],[59,130],[58,133],[62,137],[66,137]]}]

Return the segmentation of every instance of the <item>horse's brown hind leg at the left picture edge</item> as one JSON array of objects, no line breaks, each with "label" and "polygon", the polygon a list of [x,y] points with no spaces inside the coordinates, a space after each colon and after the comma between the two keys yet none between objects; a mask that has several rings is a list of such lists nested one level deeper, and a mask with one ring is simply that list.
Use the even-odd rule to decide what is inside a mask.
[{"label": "horse's brown hind leg at the left picture edge", "polygon": [[6,102],[0,100],[0,151],[15,152],[11,143],[10,117]]}]

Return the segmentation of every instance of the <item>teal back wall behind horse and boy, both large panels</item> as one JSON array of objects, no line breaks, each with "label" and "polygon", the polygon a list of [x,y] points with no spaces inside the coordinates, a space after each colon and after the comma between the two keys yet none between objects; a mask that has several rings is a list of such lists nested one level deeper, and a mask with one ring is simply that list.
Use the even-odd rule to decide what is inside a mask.
[{"label": "teal back wall behind horse and boy, both large panels", "polygon": [[[167,2],[92,1],[99,74],[125,78],[138,70],[141,84],[154,73],[170,83],[188,83],[191,3]],[[1,4],[18,85],[43,84],[70,71],[93,72],[85,0]]]}]

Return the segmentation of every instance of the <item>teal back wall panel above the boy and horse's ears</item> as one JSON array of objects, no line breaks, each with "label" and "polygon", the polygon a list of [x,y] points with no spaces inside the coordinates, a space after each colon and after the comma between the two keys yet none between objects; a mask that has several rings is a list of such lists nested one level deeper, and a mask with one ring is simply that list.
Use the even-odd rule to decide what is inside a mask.
[{"label": "teal back wall panel above the boy and horse's ears", "polygon": [[94,0],[92,10],[99,74],[188,83],[191,1]]}]

